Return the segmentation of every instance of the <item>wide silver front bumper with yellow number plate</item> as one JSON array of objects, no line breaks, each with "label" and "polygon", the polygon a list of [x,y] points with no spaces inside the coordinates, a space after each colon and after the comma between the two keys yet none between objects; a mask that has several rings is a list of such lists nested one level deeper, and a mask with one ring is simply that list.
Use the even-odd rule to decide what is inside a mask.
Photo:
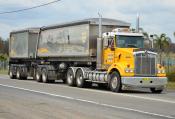
[{"label": "wide silver front bumper with yellow number plate", "polygon": [[122,84],[131,87],[161,88],[167,84],[166,77],[121,77]]}]

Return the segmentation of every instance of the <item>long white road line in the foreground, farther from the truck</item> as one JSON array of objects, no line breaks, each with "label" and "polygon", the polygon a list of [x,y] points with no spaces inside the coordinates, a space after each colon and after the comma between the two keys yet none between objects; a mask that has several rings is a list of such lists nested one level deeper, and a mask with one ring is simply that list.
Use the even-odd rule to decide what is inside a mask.
[{"label": "long white road line in the foreground, farther from the truck", "polygon": [[109,105],[109,104],[105,104],[105,103],[100,103],[100,102],[95,102],[95,101],[90,101],[90,100],[84,100],[84,99],[79,99],[79,98],[73,98],[73,97],[64,96],[64,95],[57,95],[57,94],[52,94],[52,93],[47,93],[47,92],[42,92],[42,91],[36,91],[36,90],[31,90],[31,89],[26,89],[26,88],[20,88],[20,87],[15,87],[15,86],[10,86],[10,85],[4,85],[4,84],[0,84],[0,86],[19,89],[19,90],[24,90],[24,91],[29,91],[29,92],[34,92],[34,93],[39,93],[39,94],[44,94],[44,95],[49,95],[49,96],[53,96],[53,97],[60,97],[60,98],[65,98],[65,99],[69,99],[69,100],[75,100],[75,101],[81,101],[81,102],[96,104],[96,105],[100,105],[100,106],[104,106],[104,107],[108,107],[108,108],[122,109],[122,110],[133,111],[133,112],[152,115],[152,116],[158,116],[158,117],[163,117],[163,118],[168,118],[168,119],[175,119],[175,117],[172,117],[172,116],[169,116],[169,115],[162,115],[162,114],[137,110],[137,109],[133,109],[133,108],[114,106],[114,105]]}]

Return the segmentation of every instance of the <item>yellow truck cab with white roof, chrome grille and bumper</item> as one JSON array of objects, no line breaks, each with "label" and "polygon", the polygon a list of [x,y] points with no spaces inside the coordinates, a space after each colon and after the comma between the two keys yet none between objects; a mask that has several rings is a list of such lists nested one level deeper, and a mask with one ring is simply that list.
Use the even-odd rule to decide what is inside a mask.
[{"label": "yellow truck cab with white roof, chrome grille and bumper", "polygon": [[165,69],[157,62],[157,53],[144,49],[143,34],[129,29],[103,33],[102,67],[110,76],[113,91],[129,86],[161,93],[167,83]]}]

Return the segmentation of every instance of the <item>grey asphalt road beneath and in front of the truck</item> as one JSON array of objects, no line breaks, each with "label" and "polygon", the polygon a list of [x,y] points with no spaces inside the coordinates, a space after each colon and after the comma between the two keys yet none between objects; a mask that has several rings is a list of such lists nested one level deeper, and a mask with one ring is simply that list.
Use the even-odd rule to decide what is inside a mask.
[{"label": "grey asphalt road beneath and in front of the truck", "polygon": [[1,75],[0,119],[175,119],[175,91],[113,93]]}]

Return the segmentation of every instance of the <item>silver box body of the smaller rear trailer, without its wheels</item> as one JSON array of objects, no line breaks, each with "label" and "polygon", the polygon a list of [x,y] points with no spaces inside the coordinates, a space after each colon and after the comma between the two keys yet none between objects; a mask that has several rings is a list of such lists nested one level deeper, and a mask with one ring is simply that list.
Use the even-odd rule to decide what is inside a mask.
[{"label": "silver box body of the smaller rear trailer, without its wheels", "polygon": [[34,58],[39,29],[29,28],[10,33],[10,58]]}]

